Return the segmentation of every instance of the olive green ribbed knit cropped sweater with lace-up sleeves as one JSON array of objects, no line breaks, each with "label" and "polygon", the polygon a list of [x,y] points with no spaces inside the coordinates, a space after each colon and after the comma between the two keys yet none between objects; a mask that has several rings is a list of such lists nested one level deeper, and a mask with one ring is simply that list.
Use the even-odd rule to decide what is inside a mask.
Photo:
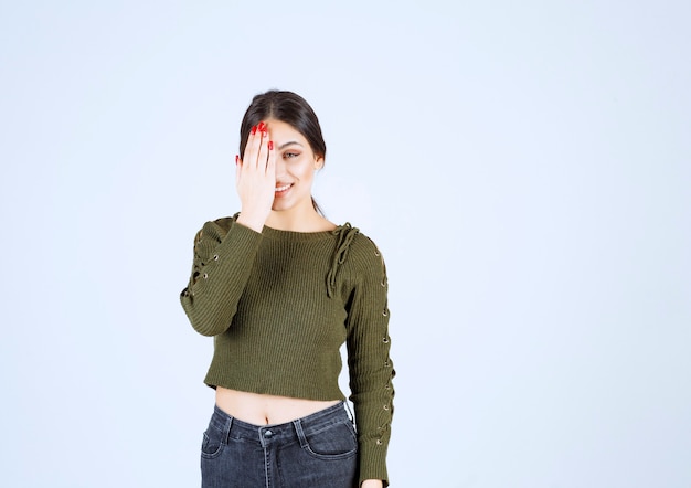
[{"label": "olive green ribbed knit cropped sweater with lace-up sleeves", "polygon": [[204,382],[310,400],[344,400],[346,343],[360,482],[387,484],[395,372],[389,357],[386,268],[350,224],[327,232],[261,233],[234,218],[208,222],[180,299],[192,327],[214,337]]}]

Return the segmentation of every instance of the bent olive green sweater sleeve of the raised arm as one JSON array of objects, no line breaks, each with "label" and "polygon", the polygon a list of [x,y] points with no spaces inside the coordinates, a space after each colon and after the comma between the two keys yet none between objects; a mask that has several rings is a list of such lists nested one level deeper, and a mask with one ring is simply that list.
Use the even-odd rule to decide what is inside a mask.
[{"label": "bent olive green sweater sleeve of the raised arm", "polygon": [[262,234],[220,219],[194,237],[194,262],[180,301],[194,330],[216,336],[231,326],[262,241]]}]

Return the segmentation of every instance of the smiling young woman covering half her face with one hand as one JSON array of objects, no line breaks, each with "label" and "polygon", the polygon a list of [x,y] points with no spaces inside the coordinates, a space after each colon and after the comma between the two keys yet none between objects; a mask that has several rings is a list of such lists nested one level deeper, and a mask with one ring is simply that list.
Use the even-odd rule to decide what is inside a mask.
[{"label": "smiling young woman covering half her face with one hand", "polygon": [[[383,258],[311,197],[327,149],[304,98],[255,96],[240,138],[241,211],[196,234],[181,294],[194,329],[214,337],[202,486],[387,486],[395,373]],[[343,343],[355,425],[338,385]]]}]

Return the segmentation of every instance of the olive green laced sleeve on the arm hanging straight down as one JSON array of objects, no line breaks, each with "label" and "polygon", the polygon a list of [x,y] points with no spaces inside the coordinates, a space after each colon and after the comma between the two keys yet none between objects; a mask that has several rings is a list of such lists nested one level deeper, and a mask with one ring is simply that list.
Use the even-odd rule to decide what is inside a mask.
[{"label": "olive green laced sleeve on the arm hanging straight down", "polygon": [[360,263],[348,310],[350,400],[355,409],[360,448],[360,484],[381,479],[389,485],[386,450],[391,436],[395,375],[389,356],[387,278],[384,259],[372,241],[351,250]]}]

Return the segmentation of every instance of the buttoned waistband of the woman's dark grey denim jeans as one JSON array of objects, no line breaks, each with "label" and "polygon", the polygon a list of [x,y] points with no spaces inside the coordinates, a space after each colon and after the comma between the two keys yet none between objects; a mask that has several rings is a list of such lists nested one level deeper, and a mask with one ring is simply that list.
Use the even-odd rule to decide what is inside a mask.
[{"label": "buttoned waistband of the woman's dark grey denim jeans", "polygon": [[[321,429],[339,423],[351,422],[344,409],[344,402],[320,410],[313,414],[284,424],[255,425],[228,415],[214,405],[211,425],[224,432],[230,438],[256,441],[262,445],[267,442],[289,442],[302,436],[316,434]],[[226,437],[226,438],[227,438]]]}]

